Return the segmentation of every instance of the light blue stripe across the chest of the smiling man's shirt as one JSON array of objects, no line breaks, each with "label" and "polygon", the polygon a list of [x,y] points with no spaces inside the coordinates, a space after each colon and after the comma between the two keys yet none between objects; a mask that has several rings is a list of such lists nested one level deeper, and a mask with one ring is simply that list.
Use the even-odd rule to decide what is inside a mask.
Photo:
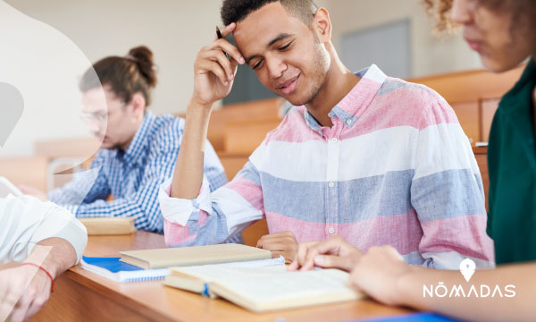
[{"label": "light blue stripe across the chest of the smiling man's shirt", "polygon": [[[413,170],[389,172],[367,178],[336,182],[294,182],[260,173],[264,210],[310,223],[348,224],[376,216],[405,214],[411,209],[410,185]],[[327,218],[329,191],[338,195],[338,217]]]}]

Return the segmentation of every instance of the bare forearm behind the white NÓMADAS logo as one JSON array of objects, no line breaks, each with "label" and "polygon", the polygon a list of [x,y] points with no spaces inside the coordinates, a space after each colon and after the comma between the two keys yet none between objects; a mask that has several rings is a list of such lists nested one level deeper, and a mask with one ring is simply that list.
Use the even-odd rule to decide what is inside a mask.
[{"label": "bare forearm behind the white N\u00d3MADAS logo", "polygon": [[[461,319],[531,320],[533,318],[533,298],[536,296],[536,279],[533,278],[535,271],[536,264],[477,270],[470,282],[467,283],[459,271],[438,271],[414,267],[411,273],[399,279],[398,298],[401,305],[415,309],[432,310]],[[437,289],[440,283],[446,287],[446,296],[442,296],[445,288]],[[458,287],[458,285],[464,290],[465,296],[458,291],[460,296],[456,297],[456,290],[451,296],[453,287]],[[473,285],[474,291],[472,292]],[[481,285],[490,288],[487,296],[485,296],[488,292],[485,286],[482,294]],[[502,296],[495,292],[496,285]],[[507,285],[515,286],[515,288],[508,287],[508,290],[515,291],[515,296],[512,296],[512,292],[506,291]],[[427,287],[428,290],[433,289],[433,296],[430,293],[425,293],[424,287]]]}]

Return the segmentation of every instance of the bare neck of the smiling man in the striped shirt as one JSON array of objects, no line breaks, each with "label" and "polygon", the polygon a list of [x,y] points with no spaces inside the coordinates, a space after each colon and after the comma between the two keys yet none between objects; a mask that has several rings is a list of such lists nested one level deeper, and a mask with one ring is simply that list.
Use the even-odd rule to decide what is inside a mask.
[{"label": "bare neck of the smiling man in the striped shirt", "polygon": [[306,104],[307,111],[314,116],[316,121],[327,127],[333,126],[328,116],[333,106],[346,97],[360,80],[340,62],[336,53],[332,57],[331,67],[322,89],[311,102]]}]

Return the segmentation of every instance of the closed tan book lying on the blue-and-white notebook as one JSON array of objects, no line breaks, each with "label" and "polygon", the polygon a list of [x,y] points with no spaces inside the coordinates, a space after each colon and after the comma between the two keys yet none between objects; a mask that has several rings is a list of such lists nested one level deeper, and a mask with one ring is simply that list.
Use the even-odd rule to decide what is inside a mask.
[{"label": "closed tan book lying on the blue-and-white notebook", "polygon": [[236,243],[121,251],[121,261],[145,269],[219,264],[272,258],[270,250]]}]

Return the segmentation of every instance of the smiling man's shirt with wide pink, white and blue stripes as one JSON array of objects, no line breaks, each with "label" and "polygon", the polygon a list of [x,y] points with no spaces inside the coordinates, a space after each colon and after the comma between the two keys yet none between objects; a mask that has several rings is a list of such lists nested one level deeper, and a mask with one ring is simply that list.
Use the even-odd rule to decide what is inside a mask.
[{"label": "smiling man's shirt with wide pink, white and blue stripes", "polygon": [[452,108],[375,65],[357,76],[331,128],[293,108],[219,190],[172,199],[164,182],[166,241],[222,242],[265,217],[270,233],[297,242],[338,234],[363,251],[391,245],[424,267],[458,269],[463,258],[493,267],[482,178]]}]

